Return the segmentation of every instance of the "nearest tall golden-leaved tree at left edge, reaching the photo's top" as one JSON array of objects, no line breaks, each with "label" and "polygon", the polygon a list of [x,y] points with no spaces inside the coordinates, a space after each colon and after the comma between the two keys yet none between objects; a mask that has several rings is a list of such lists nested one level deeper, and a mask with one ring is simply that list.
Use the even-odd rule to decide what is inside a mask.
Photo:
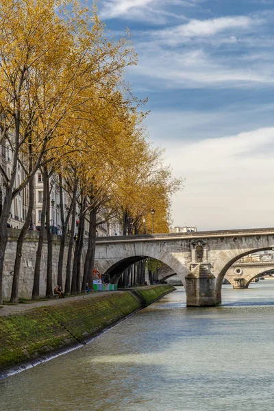
[{"label": "nearest tall golden-leaved tree at left edge, reaching the photo's top", "polygon": [[[116,42],[105,36],[96,9],[90,14],[77,1],[1,0],[0,10],[1,142],[8,141],[12,150],[10,176],[0,166],[6,186],[0,214],[2,295],[12,199],[51,161],[56,147],[75,145],[67,127],[80,117],[81,105],[95,98],[95,86],[97,92],[103,85],[113,88],[136,57],[127,38]],[[25,168],[24,181],[14,187],[16,165],[26,166],[30,134],[32,171]],[[37,297],[37,284],[34,288]]]}]

